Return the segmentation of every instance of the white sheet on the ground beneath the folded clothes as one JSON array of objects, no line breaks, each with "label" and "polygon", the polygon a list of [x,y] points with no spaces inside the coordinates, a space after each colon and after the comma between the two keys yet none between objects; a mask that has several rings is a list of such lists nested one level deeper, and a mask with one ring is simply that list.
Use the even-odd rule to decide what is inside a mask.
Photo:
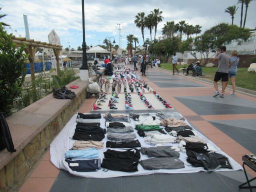
[{"label": "white sheet on the ground beneath the folded clothes", "polygon": [[[153,114],[153,113],[150,113]],[[72,148],[74,140],[71,139],[71,137],[74,134],[74,129],[75,129],[75,119],[76,119],[77,114],[73,115],[71,119],[66,123],[64,128],[59,132],[59,134],[56,136],[56,138],[52,141],[50,144],[50,161],[60,169],[67,170],[71,174],[77,175],[77,176],[83,176],[83,177],[92,177],[92,178],[106,178],[106,177],[117,177],[117,176],[131,176],[131,175],[146,175],[146,174],[152,174],[152,173],[189,173],[189,172],[198,172],[198,171],[206,171],[202,167],[193,167],[191,166],[187,161],[186,161],[186,153],[179,152],[180,156],[179,159],[184,162],[185,167],[180,168],[180,169],[172,169],[172,170],[167,170],[167,169],[159,169],[159,170],[145,170],[142,168],[140,164],[138,164],[138,171],[136,172],[122,172],[122,171],[113,171],[113,170],[108,170],[108,171],[102,171],[102,169],[96,171],[96,172],[76,172],[72,171],[69,167],[68,164],[65,162],[64,158],[64,153]],[[131,119],[131,126],[135,127],[135,123],[133,119]],[[100,120],[100,125],[101,127],[104,126],[104,121],[105,119],[102,117]],[[187,122],[187,121],[186,121]],[[152,145],[146,144],[143,137],[140,137],[137,134],[137,131],[135,130],[137,139],[141,143],[142,147],[151,147]],[[213,142],[211,142],[209,139],[207,139],[205,136],[203,136],[201,133],[197,131],[198,136],[202,137],[205,139],[208,143],[210,143],[216,150],[216,152],[221,153],[225,155],[228,159],[230,164],[232,165],[233,169],[226,169],[226,168],[220,168],[217,171],[228,171],[228,170],[239,170],[242,169],[242,167],[234,161],[230,156],[228,156],[226,153],[224,153],[219,147],[217,147]],[[107,150],[105,148],[105,143],[108,139],[105,138],[102,140],[104,142],[104,149],[98,149],[99,150],[99,158],[104,158],[103,152]],[[178,143],[174,144],[168,144],[168,145],[177,145]],[[118,149],[114,149],[118,150]],[[148,158],[147,155],[141,154],[140,160]]]}]

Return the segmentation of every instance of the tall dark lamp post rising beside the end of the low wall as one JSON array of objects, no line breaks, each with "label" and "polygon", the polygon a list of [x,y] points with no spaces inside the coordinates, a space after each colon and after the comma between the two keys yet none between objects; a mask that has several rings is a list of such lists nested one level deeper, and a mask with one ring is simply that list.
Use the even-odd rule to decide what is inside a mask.
[{"label": "tall dark lamp post rising beside the end of the low wall", "polygon": [[85,43],[84,0],[82,0],[82,65],[79,69],[80,69],[80,79],[87,80],[87,78],[89,77],[89,72],[88,72],[86,43]]}]

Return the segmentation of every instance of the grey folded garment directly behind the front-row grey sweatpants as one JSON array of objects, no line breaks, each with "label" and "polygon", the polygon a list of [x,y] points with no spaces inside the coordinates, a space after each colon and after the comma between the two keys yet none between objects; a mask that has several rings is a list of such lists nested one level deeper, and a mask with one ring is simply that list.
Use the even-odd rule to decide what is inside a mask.
[{"label": "grey folded garment directly behind the front-row grey sweatpants", "polygon": [[172,149],[171,146],[141,147],[140,152],[147,154],[148,157],[179,157],[179,152]]}]

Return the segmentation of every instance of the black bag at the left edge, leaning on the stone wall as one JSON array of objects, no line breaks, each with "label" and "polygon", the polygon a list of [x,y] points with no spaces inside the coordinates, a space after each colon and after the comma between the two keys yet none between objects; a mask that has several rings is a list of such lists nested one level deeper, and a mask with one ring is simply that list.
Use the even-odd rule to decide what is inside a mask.
[{"label": "black bag at the left edge, leaning on the stone wall", "polygon": [[0,150],[7,148],[9,152],[15,152],[9,126],[2,112],[0,112]]}]

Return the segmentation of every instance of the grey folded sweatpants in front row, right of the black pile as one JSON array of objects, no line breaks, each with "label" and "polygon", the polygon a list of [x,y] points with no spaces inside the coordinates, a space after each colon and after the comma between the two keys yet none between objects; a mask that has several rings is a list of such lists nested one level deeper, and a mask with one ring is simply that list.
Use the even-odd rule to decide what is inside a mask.
[{"label": "grey folded sweatpants in front row, right of the black pile", "polygon": [[145,160],[140,160],[139,164],[141,164],[141,166],[147,170],[177,169],[185,167],[184,163],[177,157],[147,158]]}]

